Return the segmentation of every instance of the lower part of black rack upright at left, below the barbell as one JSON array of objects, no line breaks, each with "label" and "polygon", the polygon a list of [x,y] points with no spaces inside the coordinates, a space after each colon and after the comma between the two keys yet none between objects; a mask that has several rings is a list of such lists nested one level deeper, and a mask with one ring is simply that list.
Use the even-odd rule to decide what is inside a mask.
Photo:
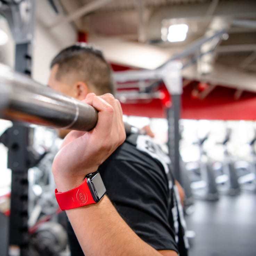
[{"label": "lower part of black rack upright at left, below the barbell", "polygon": [[[11,169],[11,209],[9,222],[9,245],[19,247],[19,255],[28,255],[28,168],[31,167],[28,148],[30,130],[22,125],[14,125],[7,130],[7,167]],[[14,247],[15,248],[15,247]]]}]

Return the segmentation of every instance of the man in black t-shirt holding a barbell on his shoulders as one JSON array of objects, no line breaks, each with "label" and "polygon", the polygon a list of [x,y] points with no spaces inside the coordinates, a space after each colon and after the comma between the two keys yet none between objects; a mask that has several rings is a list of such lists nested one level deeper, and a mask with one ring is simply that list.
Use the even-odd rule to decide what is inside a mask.
[{"label": "man in black t-shirt holding a barbell on his shoulders", "polygon": [[99,111],[92,131],[68,133],[52,166],[59,192],[96,170],[107,190],[97,204],[66,210],[83,249],[69,226],[72,255],[187,255],[170,160],[148,136],[131,134],[122,143],[122,110],[104,94],[115,89],[101,52],[85,44],[62,50],[52,60],[48,84]]}]

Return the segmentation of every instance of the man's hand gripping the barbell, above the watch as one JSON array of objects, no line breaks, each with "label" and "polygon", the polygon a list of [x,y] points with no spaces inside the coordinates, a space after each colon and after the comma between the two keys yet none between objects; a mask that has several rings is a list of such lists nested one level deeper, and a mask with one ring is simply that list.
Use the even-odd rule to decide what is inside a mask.
[{"label": "man's hand gripping the barbell, above the watch", "polygon": [[99,111],[98,122],[89,132],[72,131],[65,137],[52,165],[60,192],[82,183],[125,140],[122,108],[112,94],[89,93],[83,102]]}]

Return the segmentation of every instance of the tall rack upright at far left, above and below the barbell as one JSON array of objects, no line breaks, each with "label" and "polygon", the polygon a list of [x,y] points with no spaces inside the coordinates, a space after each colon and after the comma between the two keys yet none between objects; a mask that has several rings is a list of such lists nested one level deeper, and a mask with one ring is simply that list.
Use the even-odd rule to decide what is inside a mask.
[{"label": "tall rack upright at far left, above and below the barbell", "polygon": [[[31,75],[31,41],[35,24],[35,0],[19,1],[15,5],[5,5],[1,14],[6,17],[15,42],[15,69]],[[6,67],[1,70],[5,72]],[[8,88],[9,89],[9,88]],[[5,90],[4,96],[7,96]],[[1,107],[8,100],[5,98]],[[13,124],[5,131],[4,141],[8,148],[8,168],[11,169],[11,207],[9,218],[9,255],[29,254],[28,233],[28,168],[32,167],[29,146],[31,130]]]}]

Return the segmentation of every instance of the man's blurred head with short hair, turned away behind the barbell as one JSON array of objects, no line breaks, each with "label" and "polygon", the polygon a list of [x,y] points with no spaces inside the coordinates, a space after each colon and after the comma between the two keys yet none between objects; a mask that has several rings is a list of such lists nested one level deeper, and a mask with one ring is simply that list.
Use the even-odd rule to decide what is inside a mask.
[{"label": "man's blurred head with short hair, turned away behind the barbell", "polygon": [[[48,85],[78,100],[94,92],[115,93],[112,71],[102,52],[85,43],[61,50],[50,64]],[[67,131],[61,131],[64,137]]]}]

